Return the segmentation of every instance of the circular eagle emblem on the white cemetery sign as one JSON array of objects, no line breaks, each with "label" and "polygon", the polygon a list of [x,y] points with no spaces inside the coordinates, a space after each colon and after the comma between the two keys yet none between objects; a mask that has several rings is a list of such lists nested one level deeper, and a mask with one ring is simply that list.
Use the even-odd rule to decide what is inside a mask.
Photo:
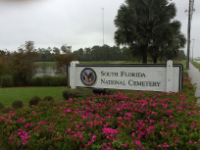
[{"label": "circular eagle emblem on the white cemetery sign", "polygon": [[96,82],[97,75],[96,72],[91,68],[85,68],[81,72],[81,81],[84,85],[91,86]]}]

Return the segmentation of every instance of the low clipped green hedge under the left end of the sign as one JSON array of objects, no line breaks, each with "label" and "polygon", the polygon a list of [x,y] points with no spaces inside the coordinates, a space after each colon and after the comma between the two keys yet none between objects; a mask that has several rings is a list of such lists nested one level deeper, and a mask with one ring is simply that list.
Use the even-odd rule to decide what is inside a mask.
[{"label": "low clipped green hedge under the left end of the sign", "polygon": [[68,100],[69,98],[79,98],[84,96],[93,95],[92,89],[67,89],[63,91],[63,98]]}]

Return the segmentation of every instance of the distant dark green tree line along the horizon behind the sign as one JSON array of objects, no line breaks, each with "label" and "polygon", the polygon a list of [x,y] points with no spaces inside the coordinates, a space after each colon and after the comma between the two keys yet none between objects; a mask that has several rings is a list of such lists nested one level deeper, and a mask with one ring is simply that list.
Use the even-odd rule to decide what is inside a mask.
[{"label": "distant dark green tree line along the horizon behind the sign", "polygon": [[[33,41],[28,41],[32,42]],[[19,48],[20,49],[20,48]],[[56,55],[64,54],[62,53],[63,50],[69,49],[69,46],[62,45],[60,48],[57,47],[48,47],[48,48],[38,48],[33,49],[32,51],[37,53],[37,56],[35,56],[34,62],[55,62]],[[14,52],[16,53],[16,52]],[[69,50],[68,53],[74,54],[74,59],[77,61],[141,61],[142,57],[138,55],[133,55],[132,49],[129,47],[122,47],[119,46],[99,46],[95,45],[93,47],[87,47],[87,48],[80,48],[78,50],[75,50],[71,52]],[[0,50],[0,55],[6,55],[7,51]],[[178,60],[184,60],[186,58],[185,53],[183,50],[176,50],[176,53],[170,54],[167,53],[167,55],[160,55],[158,57],[159,61],[166,61],[169,59],[178,59]],[[148,55],[147,57],[149,62],[153,62],[153,59],[151,55]],[[163,61],[163,62],[164,62]]]}]

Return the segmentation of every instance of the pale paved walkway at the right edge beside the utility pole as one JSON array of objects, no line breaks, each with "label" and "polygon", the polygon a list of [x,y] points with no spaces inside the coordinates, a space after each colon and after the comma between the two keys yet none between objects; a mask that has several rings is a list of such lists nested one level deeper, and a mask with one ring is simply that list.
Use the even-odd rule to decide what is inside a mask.
[{"label": "pale paved walkway at the right edge beside the utility pole", "polygon": [[[189,64],[189,70],[188,70],[188,76],[191,78],[191,83],[195,84],[196,83],[196,97],[200,97],[200,72],[199,69],[195,68],[192,63],[190,62]],[[197,100],[197,103],[199,104],[200,107],[200,98]]]}]

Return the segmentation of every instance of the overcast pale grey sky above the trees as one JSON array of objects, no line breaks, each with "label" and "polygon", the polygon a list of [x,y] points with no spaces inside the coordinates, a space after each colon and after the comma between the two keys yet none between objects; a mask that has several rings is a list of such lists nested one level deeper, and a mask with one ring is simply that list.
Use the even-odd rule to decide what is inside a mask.
[{"label": "overcast pale grey sky above the trees", "polygon": [[[66,44],[72,51],[104,44],[114,46],[114,19],[125,0],[0,0],[0,50],[15,51],[25,41],[35,48]],[[187,38],[189,0],[172,0],[174,20]],[[104,8],[104,10],[103,10]],[[191,24],[191,56],[200,57],[200,2],[194,1]],[[103,19],[104,18],[104,19]],[[103,32],[104,27],[104,32]],[[194,40],[193,40],[194,39]],[[183,49],[187,54],[187,43]]]}]

